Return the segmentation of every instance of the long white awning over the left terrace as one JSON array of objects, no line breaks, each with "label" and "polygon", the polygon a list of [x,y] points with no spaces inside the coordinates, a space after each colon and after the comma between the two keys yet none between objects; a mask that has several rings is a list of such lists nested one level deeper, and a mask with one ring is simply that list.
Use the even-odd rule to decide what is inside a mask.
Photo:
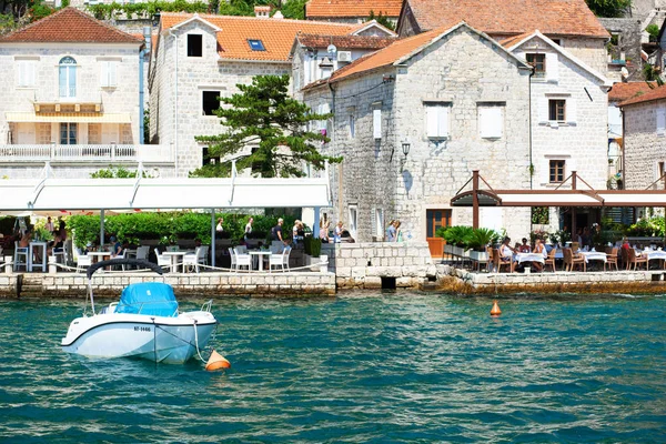
[{"label": "long white awning over the left terrace", "polygon": [[[2,211],[330,206],[322,179],[46,179],[0,181]],[[63,213],[64,214],[64,213]]]}]

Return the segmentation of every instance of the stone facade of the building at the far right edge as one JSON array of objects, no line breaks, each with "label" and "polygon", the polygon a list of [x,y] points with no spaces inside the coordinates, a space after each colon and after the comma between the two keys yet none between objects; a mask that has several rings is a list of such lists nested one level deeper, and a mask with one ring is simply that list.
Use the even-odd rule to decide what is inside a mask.
[{"label": "stone facade of the building at the far right edge", "polygon": [[666,172],[666,138],[664,129],[657,132],[657,112],[666,113],[666,99],[624,107],[623,112],[625,189],[644,190]]}]

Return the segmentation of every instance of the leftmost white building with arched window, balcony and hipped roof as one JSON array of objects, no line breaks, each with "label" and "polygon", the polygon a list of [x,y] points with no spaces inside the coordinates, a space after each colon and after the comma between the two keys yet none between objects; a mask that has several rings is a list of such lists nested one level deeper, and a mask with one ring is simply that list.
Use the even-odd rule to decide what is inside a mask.
[{"label": "leftmost white building with arched window, balcony and hipped roof", "polygon": [[38,176],[47,161],[57,176],[168,162],[168,148],[141,145],[142,49],[74,8],[2,37],[0,176]]}]

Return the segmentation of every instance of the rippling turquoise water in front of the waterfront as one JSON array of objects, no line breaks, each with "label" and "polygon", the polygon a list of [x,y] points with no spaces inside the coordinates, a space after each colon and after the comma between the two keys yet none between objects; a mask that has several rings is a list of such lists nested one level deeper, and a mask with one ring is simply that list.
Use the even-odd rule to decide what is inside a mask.
[{"label": "rippling turquoise water in front of the waterfront", "polygon": [[2,442],[666,442],[666,297],[230,300],[226,373],[58,344],[81,302],[0,302]]}]

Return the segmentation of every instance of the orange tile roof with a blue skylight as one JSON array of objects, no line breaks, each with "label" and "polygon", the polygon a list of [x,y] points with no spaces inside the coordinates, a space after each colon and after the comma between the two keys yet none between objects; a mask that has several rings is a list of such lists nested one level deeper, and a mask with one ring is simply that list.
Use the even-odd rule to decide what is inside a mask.
[{"label": "orange tile roof with a blue skylight", "polygon": [[[185,13],[162,13],[162,31],[194,17]],[[218,27],[220,57],[232,60],[289,61],[299,32],[344,36],[363,27],[357,23],[331,23],[306,20],[261,19],[254,17],[198,16]],[[261,40],[265,51],[253,51],[248,40]]]}]

